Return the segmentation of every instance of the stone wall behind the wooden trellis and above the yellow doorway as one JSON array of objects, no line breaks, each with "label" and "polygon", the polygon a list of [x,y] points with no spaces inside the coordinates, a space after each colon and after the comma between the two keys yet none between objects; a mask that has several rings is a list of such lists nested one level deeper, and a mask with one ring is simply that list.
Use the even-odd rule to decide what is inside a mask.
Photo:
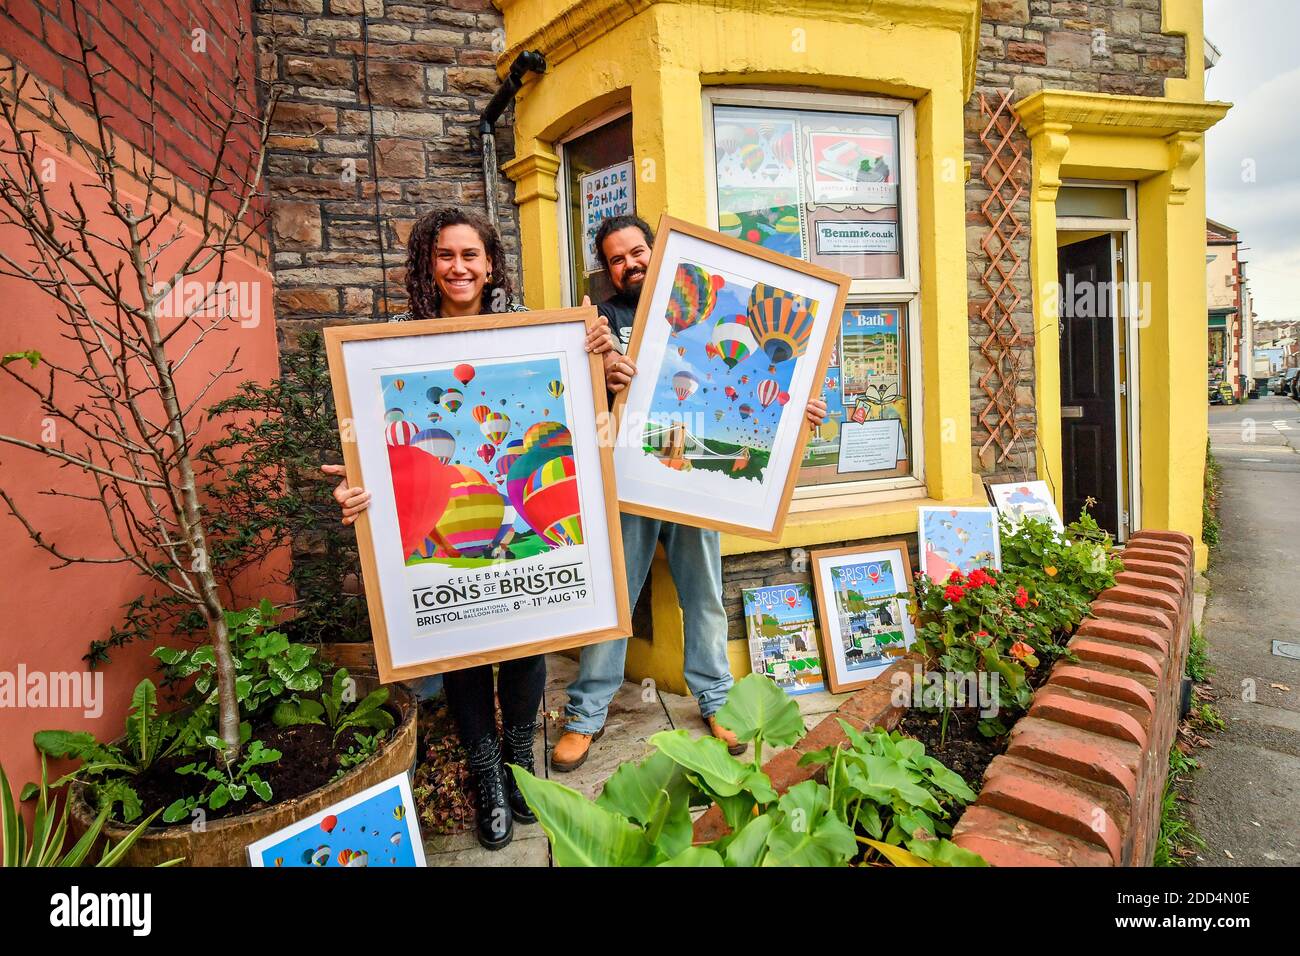
[{"label": "stone wall behind the wooden trellis and above the yellow doorway", "polygon": [[[996,103],[1004,90],[1014,99],[1028,96],[1044,86],[1054,90],[1088,90],[1106,94],[1162,96],[1167,77],[1186,75],[1184,40],[1160,31],[1161,0],[984,0],[980,23],[976,91],[966,105],[966,160],[971,178],[966,186],[967,280],[970,286],[971,334],[971,403],[972,462],[978,472],[992,480],[1034,477],[1034,316],[1030,294],[1030,144],[1017,133],[1011,146],[1024,151],[1024,164],[1018,177],[1024,195],[1013,207],[1024,225],[1014,248],[1020,265],[1014,281],[1022,300],[1014,312],[1023,346],[1017,351],[1020,368],[1017,389],[1017,419],[1026,433],[1011,454],[997,462],[998,447],[991,446],[982,457],[976,450],[988,438],[988,431],[974,416],[984,406],[985,395],[976,386],[988,369],[978,343],[988,336],[988,326],[979,317],[988,293],[979,281],[988,264],[980,248],[987,232],[982,204],[989,190],[980,170],[988,161],[988,150],[979,133],[987,124],[980,114],[980,95]],[[994,200],[994,213],[1000,212]]]}]

